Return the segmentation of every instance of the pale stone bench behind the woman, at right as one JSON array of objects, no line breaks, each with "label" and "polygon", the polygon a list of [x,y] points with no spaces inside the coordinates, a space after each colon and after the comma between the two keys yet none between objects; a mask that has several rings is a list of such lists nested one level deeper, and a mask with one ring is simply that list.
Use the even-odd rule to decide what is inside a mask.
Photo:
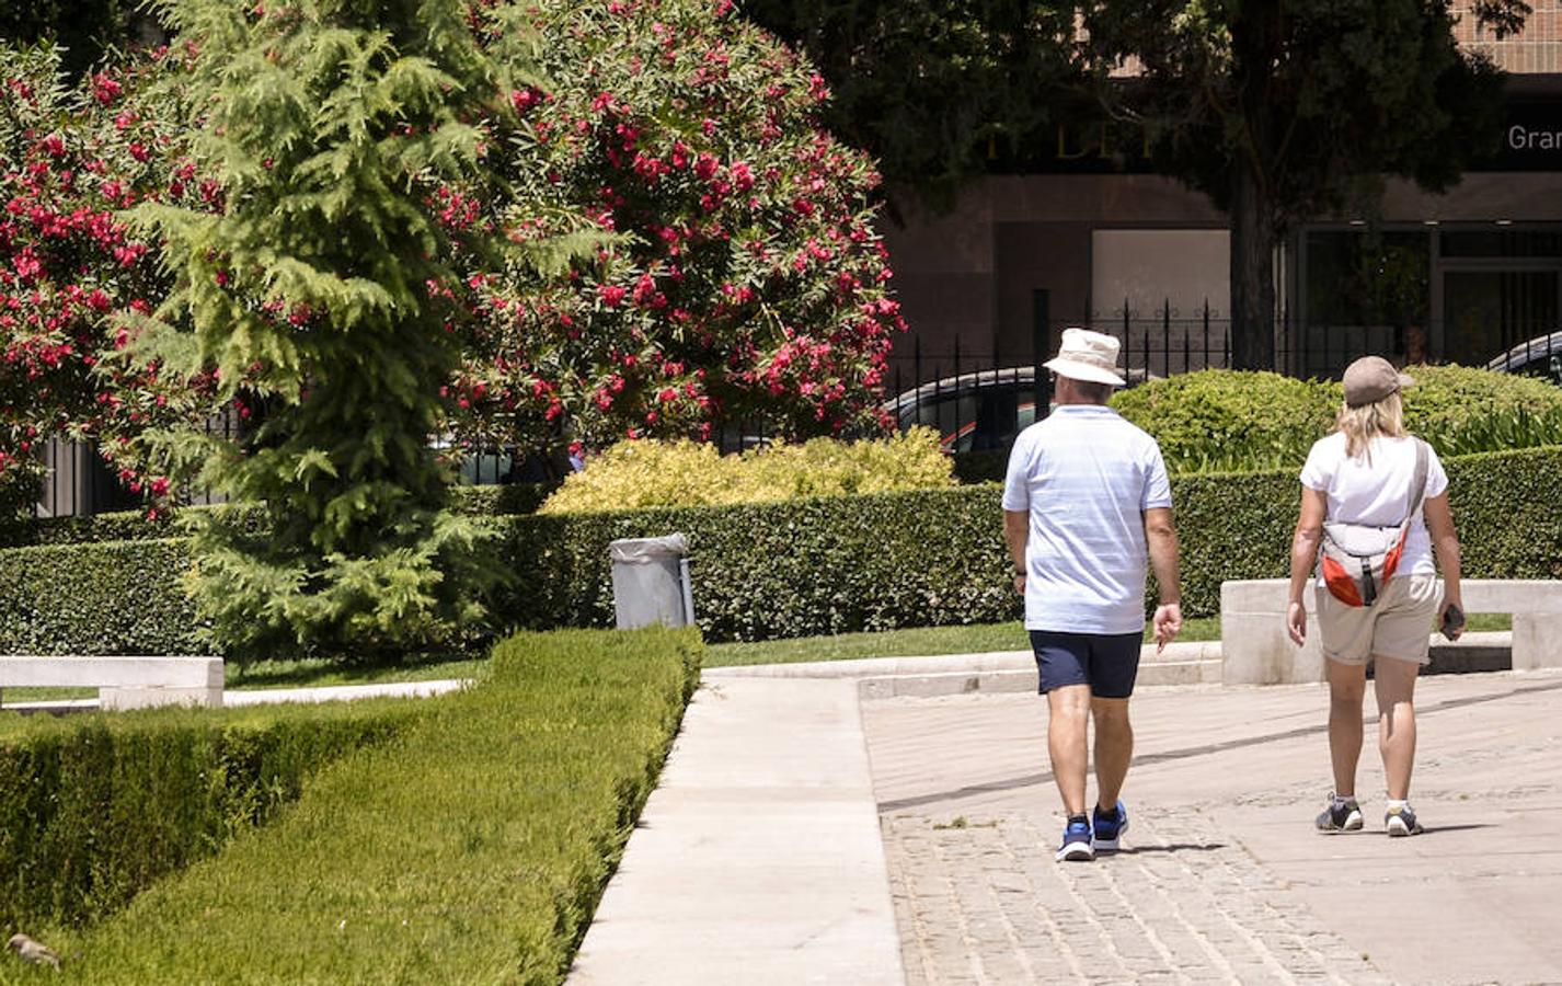
[{"label": "pale stone bench behind the woman, at right", "polygon": [[[1514,670],[1562,667],[1562,581],[1465,578],[1460,588],[1467,613],[1514,617]],[[1225,684],[1323,680],[1317,597],[1307,603],[1307,644],[1296,647],[1286,633],[1289,592],[1287,578],[1220,584],[1220,680]]]}]

